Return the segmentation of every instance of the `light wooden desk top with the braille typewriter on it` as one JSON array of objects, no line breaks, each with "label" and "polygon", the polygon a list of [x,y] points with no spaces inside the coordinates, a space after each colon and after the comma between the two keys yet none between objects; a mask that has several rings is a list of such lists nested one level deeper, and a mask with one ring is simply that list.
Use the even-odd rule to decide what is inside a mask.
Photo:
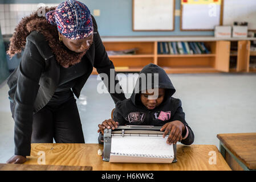
[{"label": "light wooden desk top with the braille typewriter on it", "polygon": [[[143,164],[143,163],[109,163],[104,162],[97,150],[100,144],[31,144],[31,156],[25,164],[37,164],[38,152],[46,153],[46,164],[63,166],[92,166],[94,171],[164,171],[164,170],[230,170],[224,158],[214,145],[177,145],[177,163]],[[210,151],[216,152],[217,164],[209,164]]]}]

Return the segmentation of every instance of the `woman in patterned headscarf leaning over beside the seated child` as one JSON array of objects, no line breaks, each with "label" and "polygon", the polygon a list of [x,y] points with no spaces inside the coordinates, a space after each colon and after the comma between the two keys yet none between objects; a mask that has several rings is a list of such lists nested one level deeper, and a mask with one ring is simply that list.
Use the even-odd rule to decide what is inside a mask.
[{"label": "woman in patterned headscarf leaning over beside the seated child", "polygon": [[[79,98],[93,67],[108,78],[114,68],[86,5],[69,0],[46,12],[23,18],[7,51],[13,56],[25,48],[8,79],[15,155],[7,163],[25,162],[31,143],[84,143],[74,94]],[[111,97],[125,99],[123,93]]]}]

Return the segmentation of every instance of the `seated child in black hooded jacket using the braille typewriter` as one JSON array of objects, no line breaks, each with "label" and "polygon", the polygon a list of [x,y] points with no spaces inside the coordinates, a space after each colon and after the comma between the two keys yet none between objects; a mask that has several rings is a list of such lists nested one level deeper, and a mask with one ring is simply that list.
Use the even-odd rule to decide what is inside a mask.
[{"label": "seated child in black hooded jacket using the braille typewriter", "polygon": [[[176,90],[170,78],[164,69],[155,64],[145,66],[140,75],[145,74],[145,78],[148,79],[148,73],[152,75],[152,88],[155,89],[155,92],[158,90],[158,97],[155,97],[155,92],[141,84],[143,79],[138,79],[131,98],[117,102],[113,111],[113,119],[105,120],[101,125],[99,124],[97,132],[104,133],[105,128],[115,129],[118,125],[162,126],[160,131],[164,131],[163,137],[169,133],[166,143],[192,144],[194,134],[185,121],[181,101],[172,97]],[[159,74],[158,85],[153,80],[154,73]],[[139,88],[137,88],[138,86]],[[139,90],[139,93],[135,92],[136,90]]]}]

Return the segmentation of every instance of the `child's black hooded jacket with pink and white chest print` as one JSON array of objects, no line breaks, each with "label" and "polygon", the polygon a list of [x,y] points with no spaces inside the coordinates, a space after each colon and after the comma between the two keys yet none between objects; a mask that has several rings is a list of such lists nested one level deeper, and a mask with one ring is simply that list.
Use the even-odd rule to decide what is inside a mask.
[{"label": "child's black hooded jacket with pink and white chest print", "polygon": [[[141,81],[142,78],[140,79],[141,75],[144,75],[143,73],[146,75],[146,83],[148,82],[148,79],[150,79],[150,77],[147,76],[149,75],[148,73],[152,73],[152,88],[165,89],[164,100],[159,106],[152,110],[147,109],[140,100],[141,90],[145,90],[145,86],[147,86],[147,84],[141,84],[145,82],[145,80]],[[154,73],[159,74],[159,84],[154,81]],[[186,126],[185,128],[187,128],[189,132],[188,137],[181,140],[181,143],[186,145],[192,144],[194,141],[193,131],[185,121],[185,113],[181,107],[181,100],[172,97],[174,92],[176,92],[176,90],[164,69],[155,64],[148,64],[141,70],[131,98],[116,103],[115,110],[113,111],[113,120],[119,122],[120,125],[144,126],[163,126],[165,123],[178,120]],[[165,113],[165,117],[159,119],[161,111],[162,113]],[[187,130],[185,129],[184,133],[182,133],[182,137],[185,137],[186,132]]]}]

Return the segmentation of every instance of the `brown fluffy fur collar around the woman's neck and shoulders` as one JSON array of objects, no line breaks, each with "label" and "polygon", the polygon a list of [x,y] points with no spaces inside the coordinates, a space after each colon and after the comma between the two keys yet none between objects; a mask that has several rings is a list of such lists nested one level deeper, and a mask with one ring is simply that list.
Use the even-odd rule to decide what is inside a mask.
[{"label": "brown fluffy fur collar around the woman's neck and shoulders", "polygon": [[[46,12],[54,9],[55,7],[46,8]],[[64,44],[59,41],[56,26],[52,26],[47,22],[45,16],[38,16],[37,11],[35,11],[31,15],[23,18],[15,28],[15,32],[10,39],[9,50],[7,51],[10,57],[20,53],[22,49],[25,48],[26,38],[32,31],[37,31],[44,36],[56,60],[62,66],[79,63],[86,53],[76,53],[64,46]]]}]

